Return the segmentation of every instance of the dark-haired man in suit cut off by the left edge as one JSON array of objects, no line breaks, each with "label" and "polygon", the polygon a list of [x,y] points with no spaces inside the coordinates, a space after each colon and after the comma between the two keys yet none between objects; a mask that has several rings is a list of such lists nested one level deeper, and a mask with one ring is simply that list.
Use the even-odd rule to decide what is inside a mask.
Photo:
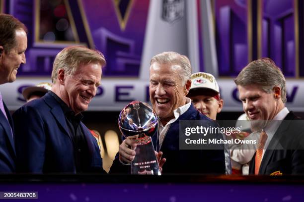
[{"label": "dark-haired man in suit cut off by the left edge", "polygon": [[[18,19],[0,13],[0,85],[16,80],[17,70],[25,63],[27,29]],[[15,172],[14,127],[0,92],[0,173]]]}]

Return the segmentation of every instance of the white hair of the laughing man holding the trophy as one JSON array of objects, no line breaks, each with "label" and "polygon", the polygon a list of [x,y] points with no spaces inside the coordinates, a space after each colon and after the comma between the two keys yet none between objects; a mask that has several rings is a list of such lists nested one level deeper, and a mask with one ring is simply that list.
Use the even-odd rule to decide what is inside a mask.
[{"label": "white hair of the laughing man holding the trophy", "polygon": [[181,66],[181,80],[184,84],[187,83],[187,80],[191,80],[192,68],[190,60],[187,56],[181,55],[177,52],[162,52],[152,57],[150,64],[154,62],[159,64],[177,64]]}]

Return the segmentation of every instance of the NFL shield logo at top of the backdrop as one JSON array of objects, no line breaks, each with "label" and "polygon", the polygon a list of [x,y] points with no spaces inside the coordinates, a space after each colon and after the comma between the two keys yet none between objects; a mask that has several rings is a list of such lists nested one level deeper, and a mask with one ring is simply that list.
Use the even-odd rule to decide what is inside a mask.
[{"label": "NFL shield logo at top of the backdrop", "polygon": [[174,22],[184,16],[184,0],[163,0],[162,19],[167,22]]}]

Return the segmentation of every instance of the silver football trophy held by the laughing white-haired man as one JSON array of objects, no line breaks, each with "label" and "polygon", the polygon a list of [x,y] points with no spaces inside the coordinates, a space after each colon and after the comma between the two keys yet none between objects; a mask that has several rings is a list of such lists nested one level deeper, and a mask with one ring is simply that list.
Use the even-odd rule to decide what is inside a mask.
[{"label": "silver football trophy held by the laughing white-haired man", "polygon": [[157,123],[157,115],[145,102],[132,101],[120,112],[118,125],[122,135],[125,138],[137,135],[131,174],[161,175],[151,139]]}]

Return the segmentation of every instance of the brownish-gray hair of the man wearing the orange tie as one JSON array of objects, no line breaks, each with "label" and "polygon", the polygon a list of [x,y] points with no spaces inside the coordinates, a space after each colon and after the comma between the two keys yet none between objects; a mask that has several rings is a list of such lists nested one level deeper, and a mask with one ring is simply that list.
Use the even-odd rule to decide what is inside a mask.
[{"label": "brownish-gray hair of the man wearing the orange tie", "polygon": [[264,57],[250,62],[237,75],[234,83],[237,86],[257,85],[266,93],[273,92],[274,87],[280,87],[281,99],[284,103],[287,101],[285,77],[270,58]]}]

